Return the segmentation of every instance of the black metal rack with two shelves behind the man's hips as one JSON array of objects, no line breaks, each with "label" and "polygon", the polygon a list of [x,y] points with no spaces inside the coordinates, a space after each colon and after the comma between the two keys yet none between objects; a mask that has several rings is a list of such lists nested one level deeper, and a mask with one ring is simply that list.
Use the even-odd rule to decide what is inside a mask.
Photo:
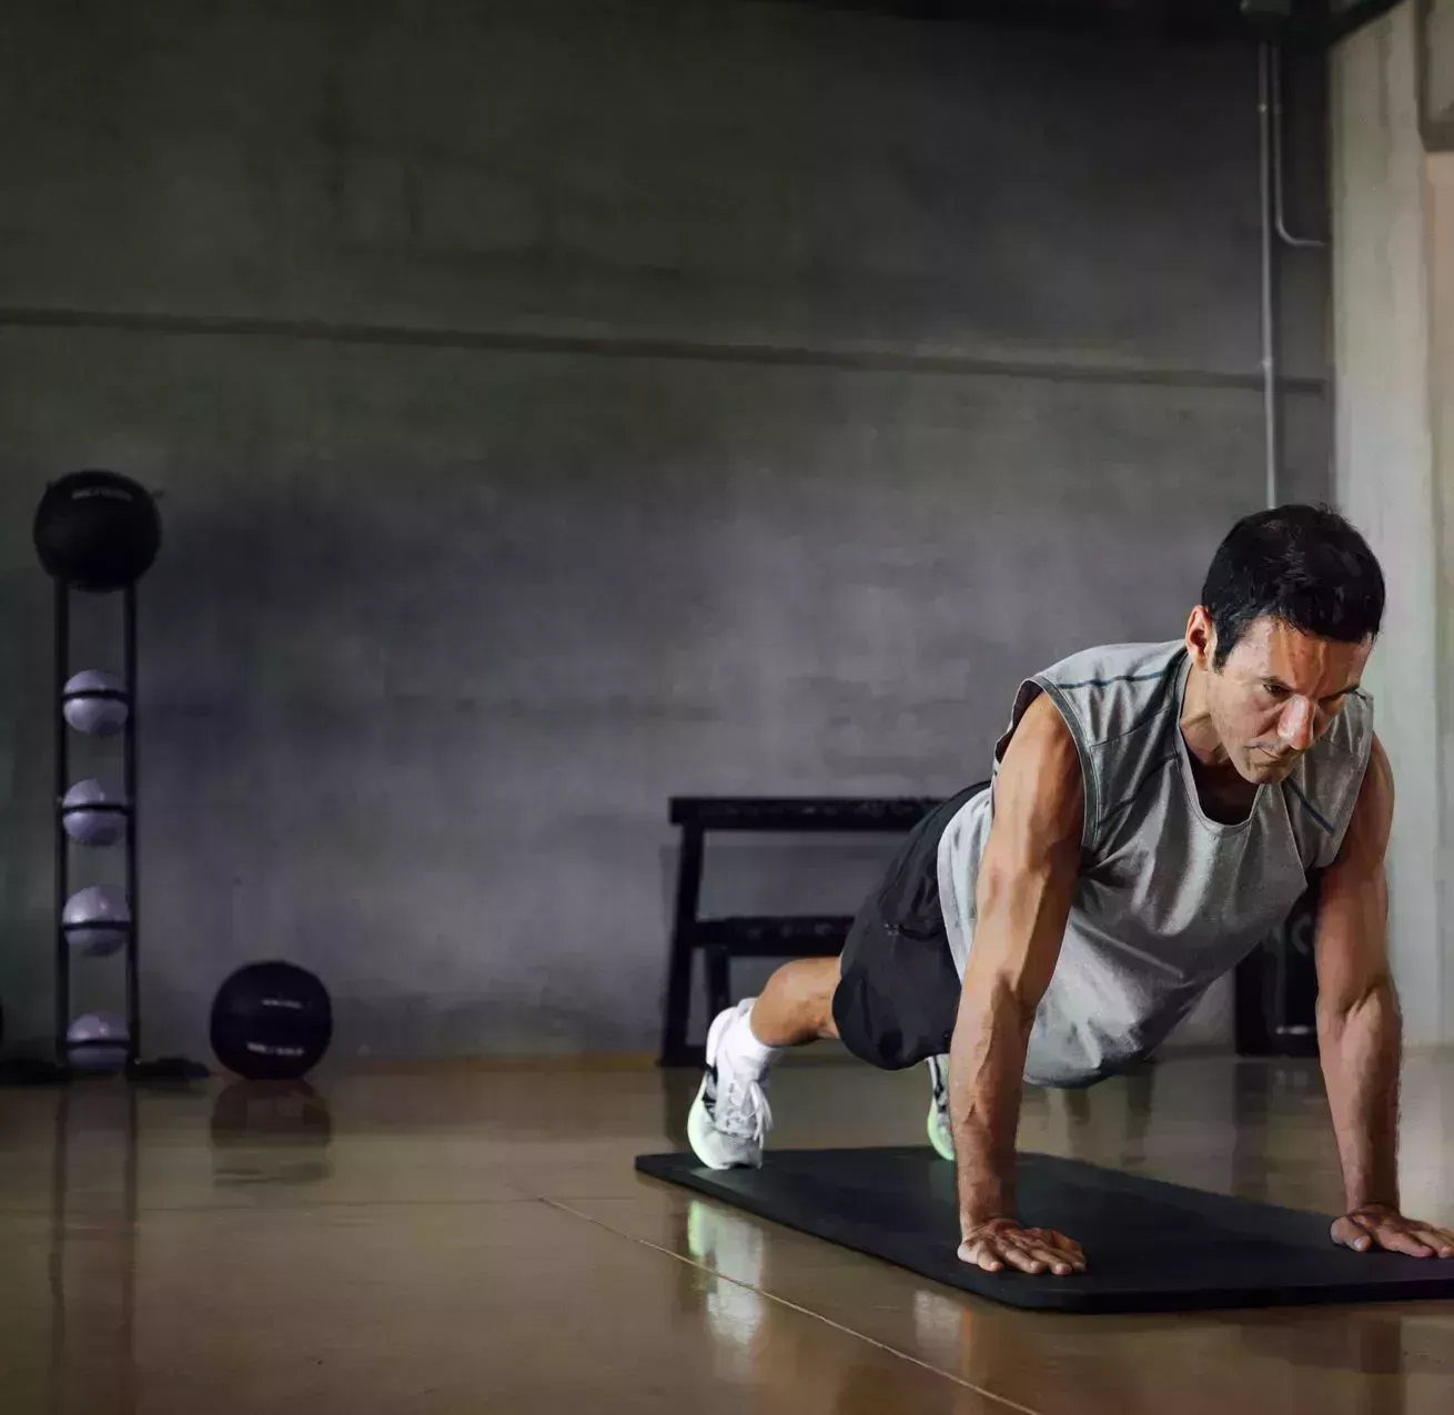
[{"label": "black metal rack with two shelves behind the man's hips", "polygon": [[711,1018],[731,1001],[727,973],[733,958],[833,958],[842,951],[853,922],[852,915],[698,919],[708,832],[901,835],[938,804],[936,797],[672,797],[670,820],[682,830],[682,855],[676,868],[660,1065],[699,1066],[702,1062],[704,1049],[686,1040],[692,963],[698,950],[704,954],[707,1015]]}]

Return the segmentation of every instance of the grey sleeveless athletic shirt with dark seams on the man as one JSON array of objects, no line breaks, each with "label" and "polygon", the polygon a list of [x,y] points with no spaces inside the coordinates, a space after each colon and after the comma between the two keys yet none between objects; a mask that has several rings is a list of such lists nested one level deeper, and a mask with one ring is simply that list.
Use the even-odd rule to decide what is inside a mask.
[{"label": "grey sleeveless athletic shirt with dark seams on the man", "polygon": [[[1280,928],[1313,870],[1333,862],[1373,747],[1373,700],[1351,692],[1287,779],[1258,790],[1236,825],[1197,795],[1181,640],[1077,653],[1027,679],[1015,727],[1050,694],[1080,755],[1080,878],[1060,960],[1031,1030],[1025,1079],[1073,1086],[1149,1053],[1217,977]],[[974,938],[974,886],[993,817],[989,790],[939,839],[939,902],[960,977]]]}]

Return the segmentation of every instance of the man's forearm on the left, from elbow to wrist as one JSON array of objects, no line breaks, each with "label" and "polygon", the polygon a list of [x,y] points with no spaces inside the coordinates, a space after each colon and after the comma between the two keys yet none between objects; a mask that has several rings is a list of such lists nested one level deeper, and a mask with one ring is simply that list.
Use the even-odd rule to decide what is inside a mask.
[{"label": "man's forearm on the left, from elbow to wrist", "polygon": [[1015,1137],[1034,1009],[1008,986],[965,987],[949,1046],[949,1113],[968,1230],[1015,1216]]}]

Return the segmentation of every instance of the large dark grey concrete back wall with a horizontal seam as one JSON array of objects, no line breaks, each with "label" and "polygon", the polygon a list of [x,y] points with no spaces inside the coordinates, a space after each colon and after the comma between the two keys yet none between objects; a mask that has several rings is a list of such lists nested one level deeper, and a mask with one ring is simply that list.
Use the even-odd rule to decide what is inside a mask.
[{"label": "large dark grey concrete back wall with a horizontal seam", "polygon": [[[1250,49],[666,0],[0,26],[15,1031],[60,471],[166,493],[144,980],[195,1053],[275,954],[345,1054],[648,1050],[669,794],[974,779],[1019,678],[1179,634],[1261,505]],[[1319,74],[1288,100],[1316,227]],[[1326,273],[1282,272],[1290,497]],[[734,849],[708,903],[846,907],[881,858]]]}]

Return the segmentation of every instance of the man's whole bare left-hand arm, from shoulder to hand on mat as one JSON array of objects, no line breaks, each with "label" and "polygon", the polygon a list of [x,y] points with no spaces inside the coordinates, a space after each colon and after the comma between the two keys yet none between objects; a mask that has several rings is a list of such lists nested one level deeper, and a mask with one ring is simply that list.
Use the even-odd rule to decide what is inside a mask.
[{"label": "man's whole bare left-hand arm, from shoulder to hand on mat", "polygon": [[[1015,1134],[1025,1051],[1050,985],[1080,864],[1085,788],[1075,740],[1054,702],[1037,698],[995,784],[980,861],[974,945],[949,1047],[949,1107],[968,1261],[997,1271],[1013,1254],[970,1239],[1015,1219]],[[1059,1271],[1059,1270],[1057,1270]]]}]

